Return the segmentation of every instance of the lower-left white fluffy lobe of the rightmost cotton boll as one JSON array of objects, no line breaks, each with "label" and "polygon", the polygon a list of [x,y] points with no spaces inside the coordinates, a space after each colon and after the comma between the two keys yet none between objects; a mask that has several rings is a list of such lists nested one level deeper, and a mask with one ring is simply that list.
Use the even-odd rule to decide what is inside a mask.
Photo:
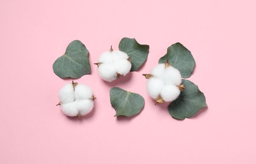
[{"label": "lower-left white fluffy lobe of the rightmost cotton boll", "polygon": [[161,79],[152,77],[147,81],[147,92],[149,93],[150,97],[157,99],[163,86],[164,82],[162,82]]}]

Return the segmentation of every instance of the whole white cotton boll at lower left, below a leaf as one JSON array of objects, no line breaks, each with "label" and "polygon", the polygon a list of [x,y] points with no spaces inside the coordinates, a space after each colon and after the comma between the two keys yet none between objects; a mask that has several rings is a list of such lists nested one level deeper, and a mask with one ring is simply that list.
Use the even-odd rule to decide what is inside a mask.
[{"label": "whole white cotton boll at lower left, below a leaf", "polygon": [[57,105],[61,105],[64,114],[79,118],[88,114],[94,108],[94,95],[88,86],[78,83],[68,83],[59,90],[59,100]]}]

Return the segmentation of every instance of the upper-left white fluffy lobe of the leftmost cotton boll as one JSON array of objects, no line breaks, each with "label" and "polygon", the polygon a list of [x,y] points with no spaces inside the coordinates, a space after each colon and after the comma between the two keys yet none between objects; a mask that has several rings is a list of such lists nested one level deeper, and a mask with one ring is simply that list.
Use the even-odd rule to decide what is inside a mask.
[{"label": "upper-left white fluffy lobe of the leftmost cotton boll", "polygon": [[68,83],[59,90],[59,100],[62,103],[70,103],[75,100],[74,88],[71,83]]}]

